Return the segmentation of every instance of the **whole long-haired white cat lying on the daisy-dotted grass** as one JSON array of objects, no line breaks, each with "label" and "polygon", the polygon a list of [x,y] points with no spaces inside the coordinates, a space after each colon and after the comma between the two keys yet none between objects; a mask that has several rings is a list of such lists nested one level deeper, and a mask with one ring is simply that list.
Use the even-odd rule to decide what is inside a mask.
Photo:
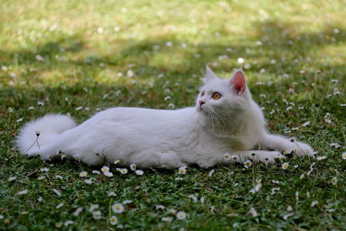
[{"label": "whole long-haired white cat lying on the daisy-dotted grass", "polygon": [[[42,159],[62,153],[90,165],[121,160],[142,168],[174,169],[197,163],[202,168],[254,159],[274,162],[280,152],[313,156],[309,145],[268,134],[261,109],[252,100],[244,73],[218,78],[207,66],[205,85],[196,106],[177,110],[115,107],[76,126],[65,115],[46,115],[22,128],[17,145],[22,153]],[[261,150],[255,150],[260,144]],[[61,150],[61,152],[59,152]],[[272,150],[272,151],[270,151]],[[101,154],[103,152],[103,154]],[[235,155],[237,158],[225,158]],[[97,156],[95,153],[99,153]]]}]

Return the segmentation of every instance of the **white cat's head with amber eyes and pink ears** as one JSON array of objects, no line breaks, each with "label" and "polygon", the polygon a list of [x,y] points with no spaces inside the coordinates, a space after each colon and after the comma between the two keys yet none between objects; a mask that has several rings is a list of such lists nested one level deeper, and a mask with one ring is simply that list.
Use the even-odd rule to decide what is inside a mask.
[{"label": "white cat's head with amber eyes and pink ears", "polygon": [[[251,100],[242,68],[229,79],[220,79],[207,66],[204,86],[197,96],[196,109],[206,116],[224,114],[226,117],[234,117],[233,114],[239,115],[246,111]],[[217,118],[217,115],[214,117]]]}]

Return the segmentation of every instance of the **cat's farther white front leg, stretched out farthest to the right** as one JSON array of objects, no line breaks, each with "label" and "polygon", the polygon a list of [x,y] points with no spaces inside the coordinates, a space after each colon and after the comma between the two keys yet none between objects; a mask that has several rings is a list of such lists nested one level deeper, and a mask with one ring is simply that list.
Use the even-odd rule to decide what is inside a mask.
[{"label": "cat's farther white front leg, stretched out farthest to the right", "polygon": [[291,142],[290,140],[278,135],[264,134],[263,137],[260,137],[258,142],[261,145],[261,149],[279,150],[282,152],[287,151],[288,153],[293,151],[300,157],[303,155],[312,157],[314,155],[314,151],[308,144],[298,141]]}]

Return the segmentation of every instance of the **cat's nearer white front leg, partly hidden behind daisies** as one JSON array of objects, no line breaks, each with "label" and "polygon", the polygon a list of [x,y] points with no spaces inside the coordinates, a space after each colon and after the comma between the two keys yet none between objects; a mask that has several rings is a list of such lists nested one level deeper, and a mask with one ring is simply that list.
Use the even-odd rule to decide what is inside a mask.
[{"label": "cat's nearer white front leg, partly hidden behind daisies", "polygon": [[223,164],[230,163],[243,163],[246,160],[261,161],[263,163],[274,163],[276,158],[285,158],[279,151],[267,151],[267,150],[250,150],[250,151],[232,151],[230,158],[222,160]]}]

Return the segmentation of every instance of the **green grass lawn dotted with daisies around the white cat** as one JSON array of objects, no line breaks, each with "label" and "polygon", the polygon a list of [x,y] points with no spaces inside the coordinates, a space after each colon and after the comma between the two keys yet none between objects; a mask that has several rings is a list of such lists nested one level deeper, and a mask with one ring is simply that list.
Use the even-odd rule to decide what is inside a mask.
[{"label": "green grass lawn dotted with daisies around the white cat", "polygon": [[[8,68],[0,70],[0,229],[116,230],[109,222],[111,215],[117,215],[126,230],[345,229],[346,107],[340,106],[346,104],[345,1],[4,0],[0,4],[0,66]],[[172,46],[165,45],[169,41]],[[220,59],[222,55],[228,59]],[[245,70],[247,83],[254,100],[264,107],[270,132],[296,136],[327,159],[289,158],[286,170],[281,163],[256,163],[249,169],[215,166],[212,177],[209,170],[196,166],[183,176],[176,170],[120,175],[114,169],[114,176],[106,178],[79,162],[26,159],[13,149],[20,127],[46,113],[71,113],[81,123],[97,108],[191,106],[205,64],[227,78],[234,68],[245,66],[237,63],[239,57],[251,65]],[[126,77],[130,69],[132,78]],[[327,97],[335,87],[341,94]],[[164,101],[167,95],[172,99]],[[292,109],[286,110],[290,105],[284,99],[294,103]],[[324,119],[327,112],[330,124]],[[306,121],[310,126],[301,126]],[[299,129],[284,133],[292,127]],[[330,143],[341,146],[333,148]],[[312,162],[316,165],[311,174],[299,179]],[[49,168],[44,180],[37,179],[39,171],[28,175],[43,167]],[[92,184],[84,183],[81,171],[88,172]],[[57,174],[63,179],[55,178]],[[17,179],[9,182],[12,176]],[[335,176],[338,183],[332,185]],[[263,186],[251,194],[256,179],[262,179]],[[280,190],[271,195],[272,187]],[[27,194],[16,195],[25,189]],[[110,191],[117,195],[107,196]],[[194,203],[190,194],[205,197],[204,203]],[[38,197],[43,201],[39,203]],[[110,206],[126,199],[132,202],[125,211],[114,214]],[[311,207],[313,201],[319,203]],[[56,208],[60,203],[64,205]],[[90,204],[100,206],[100,220],[88,212]],[[156,210],[157,205],[165,209]],[[72,215],[78,207],[83,211]],[[257,217],[249,214],[251,207]],[[169,208],[186,212],[186,219],[177,220]],[[292,216],[284,220],[289,213]],[[161,221],[164,216],[174,219],[166,223]],[[67,220],[74,224],[64,226]]]}]

